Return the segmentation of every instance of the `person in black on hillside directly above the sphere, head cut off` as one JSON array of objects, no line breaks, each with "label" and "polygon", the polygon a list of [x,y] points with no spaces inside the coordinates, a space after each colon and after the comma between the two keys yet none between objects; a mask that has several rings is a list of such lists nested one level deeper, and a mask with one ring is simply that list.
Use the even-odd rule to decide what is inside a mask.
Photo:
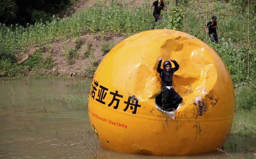
[{"label": "person in black on hillside directly above the sphere, head cut off", "polygon": [[[151,8],[152,6],[154,6],[154,12],[153,12],[153,16],[155,18],[154,24],[155,22],[157,22],[158,20],[162,20],[162,18],[160,17],[160,12],[161,10],[165,10],[167,11],[167,9],[164,9],[164,0],[156,0],[154,1],[153,4],[150,5],[149,7],[149,13],[151,12]],[[152,25],[152,27],[154,28],[155,25]]]}]

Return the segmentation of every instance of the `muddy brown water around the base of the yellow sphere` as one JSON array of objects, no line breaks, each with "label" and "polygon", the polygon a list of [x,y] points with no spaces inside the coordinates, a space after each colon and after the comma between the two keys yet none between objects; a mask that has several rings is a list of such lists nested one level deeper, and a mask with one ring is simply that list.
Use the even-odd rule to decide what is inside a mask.
[{"label": "muddy brown water around the base of the yellow sphere", "polygon": [[[87,159],[93,158],[80,138],[90,128],[88,110],[70,110],[64,103],[44,102],[42,96],[69,94],[82,80],[0,79],[0,159]],[[68,87],[69,86],[69,87]],[[88,90],[87,90],[88,91]],[[13,98],[12,98],[13,97]],[[85,97],[86,98],[86,97]],[[256,137],[230,134],[224,144],[237,159],[254,159]],[[109,159],[231,159],[213,151],[194,155],[150,156],[119,153],[99,148],[100,157]]]}]

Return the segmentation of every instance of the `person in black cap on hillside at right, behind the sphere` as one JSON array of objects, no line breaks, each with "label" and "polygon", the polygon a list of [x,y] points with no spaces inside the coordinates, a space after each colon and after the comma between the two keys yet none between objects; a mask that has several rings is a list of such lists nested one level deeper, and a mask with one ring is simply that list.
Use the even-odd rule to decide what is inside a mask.
[{"label": "person in black cap on hillside at right, behind the sphere", "polygon": [[[209,31],[207,31],[207,27],[209,28]],[[211,41],[215,43],[218,43],[218,35],[216,30],[218,29],[217,27],[217,17],[214,15],[212,17],[212,20],[207,23],[207,25],[204,26],[204,29],[206,33],[209,33],[209,37],[211,37]]]}]

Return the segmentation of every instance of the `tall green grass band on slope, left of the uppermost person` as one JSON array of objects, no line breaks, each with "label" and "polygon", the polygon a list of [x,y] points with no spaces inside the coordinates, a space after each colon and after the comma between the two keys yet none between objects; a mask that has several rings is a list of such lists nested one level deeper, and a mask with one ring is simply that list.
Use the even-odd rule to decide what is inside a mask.
[{"label": "tall green grass band on slope, left of the uppermost person", "polygon": [[96,4],[93,8],[81,10],[70,17],[58,18],[53,16],[53,21],[43,24],[38,22],[26,27],[18,24],[5,26],[0,24],[0,40],[6,47],[26,49],[33,44],[51,43],[56,38],[66,39],[78,37],[85,33],[105,33],[107,31],[132,35],[143,30],[149,30],[151,15],[147,13],[149,4],[143,3],[132,7],[124,2],[112,1],[101,6]]}]

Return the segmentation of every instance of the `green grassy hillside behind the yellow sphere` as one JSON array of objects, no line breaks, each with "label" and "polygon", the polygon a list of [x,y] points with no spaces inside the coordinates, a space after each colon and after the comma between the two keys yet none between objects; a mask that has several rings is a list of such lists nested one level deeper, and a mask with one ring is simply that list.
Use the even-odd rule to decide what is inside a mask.
[{"label": "green grassy hillside behind the yellow sphere", "polygon": [[[250,18],[247,23],[247,10],[234,4],[196,0],[181,2],[183,3],[179,4],[179,8],[175,7],[174,0],[165,2],[168,11],[162,11],[163,20],[156,25],[155,29],[184,31],[209,44],[220,55],[235,83],[255,79],[256,16],[254,11],[249,11]],[[51,22],[28,24],[26,27],[19,24],[12,26],[0,24],[0,47],[2,48],[0,76],[26,76],[31,72],[44,72],[43,70],[52,68],[58,70],[61,66],[56,67],[56,57],[52,51],[56,43],[66,42],[61,44],[62,49],[55,53],[64,57],[62,59],[67,61],[65,65],[73,65],[77,59],[87,59],[88,55],[78,54],[81,48],[83,48],[82,52],[91,52],[91,54],[96,54],[94,50],[97,49],[90,50],[92,47],[88,43],[94,45],[94,41],[88,43],[83,41],[83,35],[94,35],[94,39],[101,43],[100,46],[99,44],[95,46],[100,48],[98,52],[100,50],[102,53],[107,53],[117,42],[104,39],[105,35],[127,37],[152,29],[154,18],[152,13],[148,13],[150,4],[149,1],[141,3],[98,1],[92,6],[77,9],[70,17],[58,18],[54,15]],[[211,43],[203,29],[212,15],[218,17],[219,44]],[[28,61],[19,65],[15,63],[17,57],[28,53],[30,54]],[[45,55],[38,56],[38,54]],[[11,71],[10,68],[12,68]],[[41,74],[45,75],[45,73]]]}]

